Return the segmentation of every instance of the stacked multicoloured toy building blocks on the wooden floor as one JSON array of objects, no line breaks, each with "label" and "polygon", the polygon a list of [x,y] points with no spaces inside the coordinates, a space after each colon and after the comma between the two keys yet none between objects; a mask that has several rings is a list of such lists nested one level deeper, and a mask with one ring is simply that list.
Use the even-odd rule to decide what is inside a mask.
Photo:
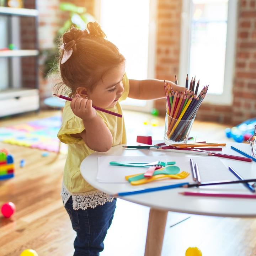
[{"label": "stacked multicoloured toy building blocks on the wooden floor", "polygon": [[0,180],[14,177],[14,159],[6,149],[0,149]]}]

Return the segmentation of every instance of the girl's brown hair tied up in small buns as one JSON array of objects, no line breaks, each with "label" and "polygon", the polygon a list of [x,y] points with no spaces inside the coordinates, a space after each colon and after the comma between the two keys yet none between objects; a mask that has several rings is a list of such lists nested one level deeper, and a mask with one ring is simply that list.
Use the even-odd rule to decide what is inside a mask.
[{"label": "girl's brown hair tied up in small buns", "polygon": [[[73,95],[80,86],[92,91],[108,70],[125,62],[124,56],[106,39],[106,34],[97,22],[89,22],[87,29],[70,28],[60,40],[64,49],[60,48],[59,55],[61,81],[53,86],[56,94],[67,94],[68,89]],[[70,58],[61,64],[64,51],[70,49],[73,49]]]}]

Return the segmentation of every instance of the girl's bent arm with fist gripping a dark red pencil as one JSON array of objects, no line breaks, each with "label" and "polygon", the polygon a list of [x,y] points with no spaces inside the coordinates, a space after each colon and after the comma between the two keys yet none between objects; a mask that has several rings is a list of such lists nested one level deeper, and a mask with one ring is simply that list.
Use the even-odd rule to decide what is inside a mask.
[{"label": "girl's bent arm with fist gripping a dark red pencil", "polygon": [[113,143],[112,134],[103,120],[97,116],[95,108],[92,107],[92,101],[76,94],[70,107],[73,113],[82,119],[85,127],[81,133],[74,134],[73,137],[81,137],[92,150],[98,152],[110,150]]}]

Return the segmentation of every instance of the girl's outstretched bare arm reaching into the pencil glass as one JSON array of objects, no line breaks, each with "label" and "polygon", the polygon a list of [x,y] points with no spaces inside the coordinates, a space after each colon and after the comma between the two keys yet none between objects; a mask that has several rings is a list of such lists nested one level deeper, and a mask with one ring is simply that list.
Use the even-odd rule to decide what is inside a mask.
[{"label": "girl's outstretched bare arm reaching into the pencil glass", "polygon": [[[174,82],[165,80],[166,83],[171,84],[174,91],[178,90],[184,92],[186,87],[176,85]],[[133,80],[129,79],[130,91],[128,97],[139,100],[153,100],[165,97],[164,80],[145,79]],[[188,91],[188,90],[187,90]]]}]

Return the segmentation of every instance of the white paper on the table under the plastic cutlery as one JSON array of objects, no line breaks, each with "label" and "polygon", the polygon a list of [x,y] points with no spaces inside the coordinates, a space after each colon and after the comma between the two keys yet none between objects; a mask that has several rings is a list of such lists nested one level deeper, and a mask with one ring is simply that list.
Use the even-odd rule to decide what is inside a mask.
[{"label": "white paper on the table under the plastic cutlery", "polygon": [[[181,171],[187,171],[191,174],[191,157],[168,157],[168,156],[101,156],[98,158],[98,174],[97,180],[101,183],[128,183],[125,176],[146,172],[147,167],[127,167],[110,165],[111,161],[125,162],[153,162],[153,161],[175,161],[176,166],[180,167]],[[234,175],[228,170],[223,162],[214,156],[202,157],[195,156],[192,158],[194,164],[198,164],[201,181],[220,181],[220,180],[235,180]],[[154,181],[154,183],[180,183],[193,182],[192,175],[185,179],[167,179]]]}]

